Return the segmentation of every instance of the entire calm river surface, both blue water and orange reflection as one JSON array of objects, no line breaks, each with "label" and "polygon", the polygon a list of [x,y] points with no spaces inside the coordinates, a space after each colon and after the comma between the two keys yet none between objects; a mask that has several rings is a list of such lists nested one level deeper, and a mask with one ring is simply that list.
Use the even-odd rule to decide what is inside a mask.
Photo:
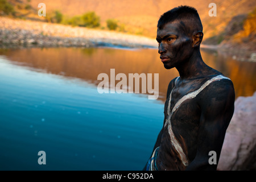
[{"label": "entire calm river surface, both blue water and orange reflection", "polygon": [[[238,96],[256,90],[256,63],[202,51]],[[159,98],[100,94],[97,76],[159,73]],[[168,83],[156,49],[0,49],[0,170],[141,170],[163,124]],[[118,81],[117,81],[118,82]],[[116,82],[116,83],[117,83]],[[46,152],[46,165],[38,152]]]}]

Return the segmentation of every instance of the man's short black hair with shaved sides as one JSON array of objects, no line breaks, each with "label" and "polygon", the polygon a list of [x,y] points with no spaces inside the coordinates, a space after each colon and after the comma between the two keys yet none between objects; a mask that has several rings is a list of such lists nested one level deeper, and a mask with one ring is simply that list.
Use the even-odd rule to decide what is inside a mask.
[{"label": "man's short black hair with shaved sides", "polygon": [[200,31],[203,31],[200,16],[197,10],[191,6],[178,6],[164,13],[158,20],[158,28],[162,29],[166,23],[181,19],[193,20],[194,26]]}]

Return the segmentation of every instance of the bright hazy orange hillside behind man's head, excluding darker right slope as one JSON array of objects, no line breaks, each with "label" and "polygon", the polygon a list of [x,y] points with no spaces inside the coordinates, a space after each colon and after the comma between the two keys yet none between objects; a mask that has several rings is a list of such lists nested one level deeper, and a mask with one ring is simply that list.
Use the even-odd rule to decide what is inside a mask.
[{"label": "bright hazy orange hillside behind man's head, excluding darker right slope", "polygon": [[[19,16],[23,18],[45,20],[37,16],[38,4],[42,2],[40,0],[5,1],[13,4],[15,11],[18,11]],[[65,17],[70,17],[94,11],[100,16],[103,27],[107,19],[117,19],[119,25],[122,25],[127,32],[151,38],[155,38],[156,23],[161,14],[179,5],[193,6],[198,10],[203,22],[204,40],[222,34],[232,19],[240,22],[240,19],[235,17],[247,15],[256,7],[255,2],[250,0],[216,0],[214,3],[217,6],[217,16],[211,17],[208,7],[212,3],[211,0],[199,0],[196,3],[189,0],[44,0],[43,2],[46,4],[47,13],[58,10]]]}]

